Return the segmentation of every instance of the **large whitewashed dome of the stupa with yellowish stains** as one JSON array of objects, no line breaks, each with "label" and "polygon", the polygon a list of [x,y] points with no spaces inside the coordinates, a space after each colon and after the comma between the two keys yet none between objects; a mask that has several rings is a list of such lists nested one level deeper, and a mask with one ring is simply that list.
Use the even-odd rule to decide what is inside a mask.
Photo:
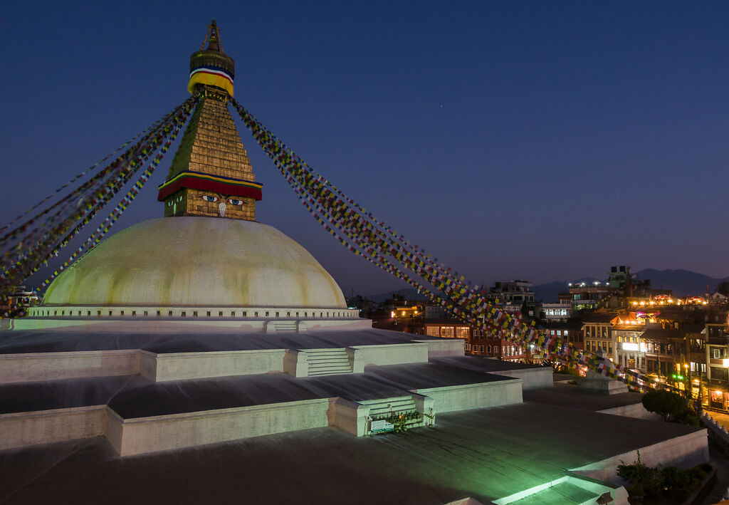
[{"label": "large whitewashed dome of the stupa with yellowish stains", "polygon": [[63,271],[43,305],[346,308],[337,282],[269,225],[163,217],[127,228]]}]

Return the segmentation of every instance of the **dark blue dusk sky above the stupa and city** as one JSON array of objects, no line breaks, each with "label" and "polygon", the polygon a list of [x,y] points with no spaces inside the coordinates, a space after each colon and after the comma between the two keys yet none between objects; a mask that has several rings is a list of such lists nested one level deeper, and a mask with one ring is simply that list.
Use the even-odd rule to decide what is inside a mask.
[{"label": "dark blue dusk sky above the stupa and city", "polygon": [[[724,2],[5,4],[0,221],[184,101],[213,17],[236,98],[475,282],[729,275]],[[260,221],[347,294],[402,287],[321,230],[239,128]],[[171,158],[115,229],[162,215]]]}]

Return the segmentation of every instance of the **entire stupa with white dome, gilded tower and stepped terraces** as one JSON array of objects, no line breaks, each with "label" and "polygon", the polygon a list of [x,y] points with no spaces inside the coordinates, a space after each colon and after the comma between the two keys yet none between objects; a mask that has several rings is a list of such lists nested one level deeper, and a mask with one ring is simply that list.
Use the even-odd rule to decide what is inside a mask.
[{"label": "entire stupa with white dome, gilded tower and stepped terraces", "polygon": [[[19,475],[0,501],[626,503],[620,458],[708,458],[703,430],[565,407],[551,369],[373,329],[311,254],[257,222],[234,77],[213,21],[190,58],[202,98],[159,187],[164,217],[106,239],[0,331],[0,471],[38,484]],[[635,393],[609,401],[642,415]],[[564,447],[574,433],[579,450]]]}]

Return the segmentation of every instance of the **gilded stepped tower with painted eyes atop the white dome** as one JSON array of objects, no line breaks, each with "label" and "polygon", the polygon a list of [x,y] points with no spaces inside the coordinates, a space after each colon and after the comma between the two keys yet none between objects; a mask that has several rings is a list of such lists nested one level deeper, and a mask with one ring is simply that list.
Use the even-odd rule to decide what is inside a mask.
[{"label": "gilded stepped tower with painted eyes atop the white dome", "polygon": [[[207,49],[203,50],[208,42]],[[165,217],[217,216],[254,221],[261,187],[227,109],[235,63],[225,54],[215,20],[190,56],[190,93],[200,102],[160,185]]]}]

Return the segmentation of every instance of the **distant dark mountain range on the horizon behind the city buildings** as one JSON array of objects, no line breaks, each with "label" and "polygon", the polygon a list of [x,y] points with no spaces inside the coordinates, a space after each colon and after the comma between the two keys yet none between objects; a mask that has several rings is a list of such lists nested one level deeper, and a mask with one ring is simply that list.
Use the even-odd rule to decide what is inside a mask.
[{"label": "distant dark mountain range on the horizon behind the city buildings", "polygon": [[[688,271],[684,269],[677,270],[656,270],[656,269],[644,269],[641,271],[633,272],[638,277],[638,280],[650,279],[650,284],[656,289],[670,289],[673,290],[676,296],[701,296],[706,293],[706,286],[709,286],[711,293],[717,289],[717,285],[720,282],[729,280],[729,277],[714,278],[704,274],[697,274],[695,271]],[[569,282],[573,284],[579,284],[585,282],[587,285],[591,285],[593,282],[599,281],[601,283],[607,282],[607,279],[596,279],[595,277],[582,277],[582,279],[575,279],[569,281],[555,281],[547,282],[546,284],[540,284],[534,286],[534,298],[546,302],[558,301],[559,293],[566,292]],[[369,298],[376,303],[381,303],[387,298],[391,298],[393,294],[405,296],[408,300],[425,300],[425,296],[419,294],[417,290],[413,288],[403,288],[399,290],[387,291],[378,295],[370,295]]]}]

